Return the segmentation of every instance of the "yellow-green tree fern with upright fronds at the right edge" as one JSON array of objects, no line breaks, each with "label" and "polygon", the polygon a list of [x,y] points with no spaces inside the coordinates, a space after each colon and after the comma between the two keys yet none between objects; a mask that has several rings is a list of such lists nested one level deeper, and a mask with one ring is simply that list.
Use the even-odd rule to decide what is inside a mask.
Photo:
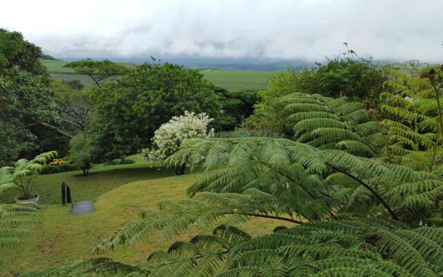
[{"label": "yellow-green tree fern with upright fronds at the right edge", "polygon": [[404,149],[394,148],[395,153],[400,156],[410,154],[410,150],[420,153],[431,159],[428,169],[433,170],[442,139],[442,88],[435,85],[435,79],[428,78],[428,69],[423,67],[424,64],[410,61],[388,69],[392,78],[385,82],[386,91],[380,95],[381,109],[395,119],[383,120],[390,144]]}]

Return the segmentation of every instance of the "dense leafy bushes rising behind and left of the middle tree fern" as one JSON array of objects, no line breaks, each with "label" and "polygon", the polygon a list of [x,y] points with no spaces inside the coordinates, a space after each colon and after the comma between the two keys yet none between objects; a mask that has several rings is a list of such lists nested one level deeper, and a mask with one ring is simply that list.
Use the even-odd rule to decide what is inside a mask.
[{"label": "dense leafy bushes rising behind and left of the middle tree fern", "polygon": [[255,106],[255,113],[247,125],[264,135],[291,134],[284,125],[284,103],[279,99],[291,93],[311,93],[338,98],[345,96],[352,101],[368,101],[372,106],[379,102],[383,82],[387,76],[383,68],[370,58],[358,57],[353,51],[317,64],[313,69],[279,73],[271,78],[269,89],[262,91],[262,102]]}]

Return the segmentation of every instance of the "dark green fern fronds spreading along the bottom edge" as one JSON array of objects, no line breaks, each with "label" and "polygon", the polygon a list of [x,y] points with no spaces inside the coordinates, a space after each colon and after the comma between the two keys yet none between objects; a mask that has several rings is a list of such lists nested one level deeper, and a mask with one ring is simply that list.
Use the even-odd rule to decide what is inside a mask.
[{"label": "dark green fern fronds spreading along the bottom edge", "polygon": [[[212,235],[197,235],[189,242],[175,242],[168,251],[153,252],[138,267],[96,259],[46,272],[74,276],[69,274],[86,273],[87,267],[90,274],[114,276],[118,266],[127,274],[122,276],[440,276],[442,229],[404,228],[381,218],[336,219],[251,238],[239,229],[219,226]],[[227,239],[234,237],[239,239]]]}]

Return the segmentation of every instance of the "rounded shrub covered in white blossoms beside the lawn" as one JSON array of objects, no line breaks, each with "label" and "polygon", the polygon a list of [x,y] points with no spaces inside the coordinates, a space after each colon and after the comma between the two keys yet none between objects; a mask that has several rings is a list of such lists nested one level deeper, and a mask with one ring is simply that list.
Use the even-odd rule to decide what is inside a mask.
[{"label": "rounded shrub covered in white blossoms beside the lawn", "polygon": [[205,113],[195,114],[185,111],[183,116],[174,116],[156,130],[152,138],[152,148],[143,149],[140,157],[145,161],[163,161],[179,150],[185,139],[209,138],[214,136],[214,129],[208,130],[208,124],[214,118]]}]

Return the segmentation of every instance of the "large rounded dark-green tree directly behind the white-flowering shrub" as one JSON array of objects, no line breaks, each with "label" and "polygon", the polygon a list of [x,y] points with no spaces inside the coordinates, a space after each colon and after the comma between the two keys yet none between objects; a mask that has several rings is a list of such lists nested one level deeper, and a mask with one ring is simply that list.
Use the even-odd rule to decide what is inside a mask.
[{"label": "large rounded dark-green tree directly behind the white-flowering shrub", "polygon": [[161,124],[184,111],[217,119],[221,106],[212,84],[192,69],[143,64],[92,93],[96,109],[91,138],[99,159],[132,154],[151,143]]}]

